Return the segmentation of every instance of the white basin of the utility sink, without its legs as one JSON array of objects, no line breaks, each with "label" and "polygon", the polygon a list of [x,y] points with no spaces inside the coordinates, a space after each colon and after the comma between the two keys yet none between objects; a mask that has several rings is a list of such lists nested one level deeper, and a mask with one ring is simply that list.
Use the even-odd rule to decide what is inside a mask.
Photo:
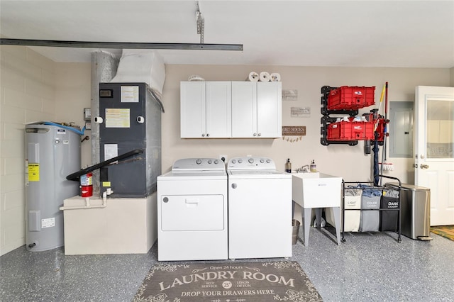
[{"label": "white basin of the utility sink, without its legs", "polygon": [[341,206],[342,178],[320,172],[292,173],[292,199],[302,208]]}]

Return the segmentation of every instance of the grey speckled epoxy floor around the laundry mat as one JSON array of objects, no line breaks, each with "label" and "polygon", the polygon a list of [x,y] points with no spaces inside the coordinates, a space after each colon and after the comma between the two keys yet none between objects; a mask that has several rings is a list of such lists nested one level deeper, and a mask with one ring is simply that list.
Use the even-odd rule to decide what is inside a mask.
[{"label": "grey speckled epoxy floor around the laundry mat", "polygon": [[[346,233],[338,246],[311,228],[309,246],[299,240],[290,260],[324,301],[454,301],[454,241],[431,237]],[[156,262],[156,245],[146,255],[82,256],[23,246],[0,257],[0,301],[131,301]]]}]

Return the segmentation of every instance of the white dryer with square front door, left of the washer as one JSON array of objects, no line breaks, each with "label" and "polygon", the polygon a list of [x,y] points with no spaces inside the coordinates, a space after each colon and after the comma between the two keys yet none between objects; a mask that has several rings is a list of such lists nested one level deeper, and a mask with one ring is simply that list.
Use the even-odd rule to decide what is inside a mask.
[{"label": "white dryer with square front door, left of the washer", "polygon": [[228,259],[227,175],[222,160],[177,160],[157,177],[157,259]]}]

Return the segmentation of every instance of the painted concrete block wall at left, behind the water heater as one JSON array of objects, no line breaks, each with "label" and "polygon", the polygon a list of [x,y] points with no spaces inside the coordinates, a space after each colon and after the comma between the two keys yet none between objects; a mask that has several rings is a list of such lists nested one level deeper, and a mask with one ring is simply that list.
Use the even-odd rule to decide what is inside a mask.
[{"label": "painted concrete block wall at left, behind the water heater", "polygon": [[26,123],[55,120],[55,62],[1,46],[0,255],[25,244]]}]

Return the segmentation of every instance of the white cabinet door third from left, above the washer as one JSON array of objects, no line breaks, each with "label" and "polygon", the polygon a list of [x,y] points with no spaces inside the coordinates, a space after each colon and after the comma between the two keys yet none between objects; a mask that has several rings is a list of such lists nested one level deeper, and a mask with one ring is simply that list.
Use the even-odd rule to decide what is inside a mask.
[{"label": "white cabinet door third from left, above the washer", "polygon": [[232,137],[257,136],[257,83],[232,82]]}]

